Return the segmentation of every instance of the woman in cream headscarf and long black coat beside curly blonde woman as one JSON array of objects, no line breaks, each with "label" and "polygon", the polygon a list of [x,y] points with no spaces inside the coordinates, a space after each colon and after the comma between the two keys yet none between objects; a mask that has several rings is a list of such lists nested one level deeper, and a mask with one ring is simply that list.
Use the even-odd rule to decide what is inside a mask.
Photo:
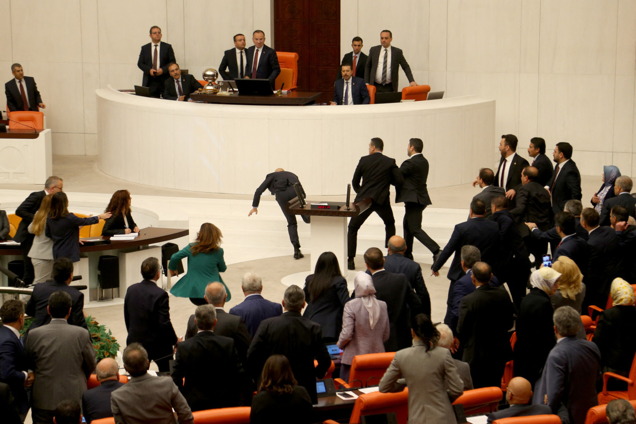
[{"label": "woman in cream headscarf and long black coat beside curly blonde woman", "polygon": [[539,268],[530,275],[530,292],[523,297],[516,321],[515,376],[534,383],[541,376],[548,353],[556,343],[550,296],[558,288],[561,274],[552,268]]}]

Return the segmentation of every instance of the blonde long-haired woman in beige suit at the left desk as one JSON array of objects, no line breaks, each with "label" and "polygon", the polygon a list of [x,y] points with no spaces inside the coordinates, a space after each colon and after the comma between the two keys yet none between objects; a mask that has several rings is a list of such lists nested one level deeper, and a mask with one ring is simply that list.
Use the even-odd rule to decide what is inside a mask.
[{"label": "blonde long-haired woman in beige suit at the left desk", "polygon": [[45,233],[46,217],[51,209],[51,198],[53,195],[46,195],[40,203],[33,221],[29,224],[28,231],[34,234],[33,245],[29,250],[29,257],[33,264],[35,278],[33,284],[38,284],[50,280],[53,272],[53,240]]}]

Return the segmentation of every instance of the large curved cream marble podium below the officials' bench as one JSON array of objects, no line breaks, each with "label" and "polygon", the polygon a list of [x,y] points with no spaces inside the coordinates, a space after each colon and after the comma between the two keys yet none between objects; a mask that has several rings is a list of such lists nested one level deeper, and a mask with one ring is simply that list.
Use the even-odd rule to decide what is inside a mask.
[{"label": "large curved cream marble podium below the officials' bench", "polygon": [[476,96],[359,106],[243,106],[97,93],[99,168],[149,186],[252,195],[284,168],[307,195],[344,195],[372,137],[407,158],[424,140],[429,187],[474,179],[497,158],[495,101]]}]

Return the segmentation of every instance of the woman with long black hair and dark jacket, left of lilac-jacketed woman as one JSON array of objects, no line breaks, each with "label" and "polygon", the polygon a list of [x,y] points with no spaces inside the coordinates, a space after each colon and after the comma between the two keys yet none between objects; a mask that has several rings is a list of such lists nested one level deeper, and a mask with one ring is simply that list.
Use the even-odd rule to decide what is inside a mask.
[{"label": "woman with long black hair and dark jacket, left of lilac-jacketed woman", "polygon": [[325,341],[337,341],[342,330],[342,312],[350,296],[335,254],[324,252],[318,257],[314,273],[305,279],[303,291],[307,301],[303,317],[322,325]]}]

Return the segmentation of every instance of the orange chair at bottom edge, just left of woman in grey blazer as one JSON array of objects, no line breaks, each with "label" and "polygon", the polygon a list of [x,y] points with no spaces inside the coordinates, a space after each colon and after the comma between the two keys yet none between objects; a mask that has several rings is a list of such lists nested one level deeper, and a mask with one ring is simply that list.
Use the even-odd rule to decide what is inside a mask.
[{"label": "orange chair at bottom edge, just left of woman in grey blazer", "polygon": [[[358,424],[362,415],[396,413],[397,424],[406,424],[408,420],[408,388],[397,393],[373,392],[356,399],[354,410],[349,418],[350,424]],[[324,424],[338,424],[327,420]]]}]

